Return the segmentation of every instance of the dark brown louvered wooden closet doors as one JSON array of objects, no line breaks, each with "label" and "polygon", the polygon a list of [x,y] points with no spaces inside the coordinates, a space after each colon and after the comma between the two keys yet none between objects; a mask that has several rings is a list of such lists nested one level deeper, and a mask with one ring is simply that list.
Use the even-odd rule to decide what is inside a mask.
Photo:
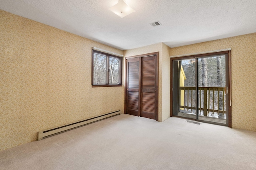
[{"label": "dark brown louvered wooden closet doors", "polygon": [[158,53],[126,59],[125,109],[158,120]]}]

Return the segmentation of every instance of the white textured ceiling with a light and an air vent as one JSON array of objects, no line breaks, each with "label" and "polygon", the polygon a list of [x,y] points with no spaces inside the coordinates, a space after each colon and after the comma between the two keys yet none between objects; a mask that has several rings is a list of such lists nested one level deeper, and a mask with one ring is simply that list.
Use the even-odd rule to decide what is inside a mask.
[{"label": "white textured ceiling with a light and an air vent", "polygon": [[0,0],[0,9],[122,50],[256,32],[256,0],[125,1],[136,12],[124,18],[108,10],[118,0]]}]

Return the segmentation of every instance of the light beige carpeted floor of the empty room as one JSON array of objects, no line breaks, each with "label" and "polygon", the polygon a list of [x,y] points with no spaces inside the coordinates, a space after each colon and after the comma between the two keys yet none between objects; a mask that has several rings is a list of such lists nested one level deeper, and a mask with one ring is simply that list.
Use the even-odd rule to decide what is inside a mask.
[{"label": "light beige carpeted floor of the empty room", "polygon": [[0,152],[0,170],[255,170],[256,132],[118,115]]}]

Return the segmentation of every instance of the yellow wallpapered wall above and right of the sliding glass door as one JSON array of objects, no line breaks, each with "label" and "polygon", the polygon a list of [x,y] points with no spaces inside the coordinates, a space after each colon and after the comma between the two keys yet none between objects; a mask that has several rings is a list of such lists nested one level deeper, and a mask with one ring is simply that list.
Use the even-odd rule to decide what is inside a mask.
[{"label": "yellow wallpapered wall above and right of the sliding glass door", "polygon": [[171,48],[184,55],[231,48],[232,127],[256,131],[256,33]]}]

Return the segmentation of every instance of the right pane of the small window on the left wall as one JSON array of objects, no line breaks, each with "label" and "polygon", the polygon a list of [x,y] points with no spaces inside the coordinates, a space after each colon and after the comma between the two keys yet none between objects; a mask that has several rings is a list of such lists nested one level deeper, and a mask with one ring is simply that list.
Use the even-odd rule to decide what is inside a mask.
[{"label": "right pane of the small window on the left wall", "polygon": [[109,57],[109,84],[119,84],[119,59]]}]

